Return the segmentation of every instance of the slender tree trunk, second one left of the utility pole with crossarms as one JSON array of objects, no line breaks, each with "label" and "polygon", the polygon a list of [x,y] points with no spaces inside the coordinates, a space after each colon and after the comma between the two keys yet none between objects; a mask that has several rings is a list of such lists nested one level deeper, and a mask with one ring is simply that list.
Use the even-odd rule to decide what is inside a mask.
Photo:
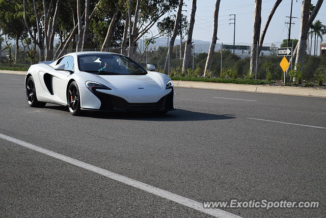
[{"label": "slender tree trunk, second one left of the utility pole with crossarms", "polygon": [[190,15],[190,21],[189,21],[189,29],[187,34],[187,41],[184,47],[184,57],[183,57],[183,63],[182,63],[182,73],[187,74],[188,70],[188,64],[189,64],[189,56],[191,52],[191,46],[192,46],[192,38],[193,38],[193,30],[194,30],[194,23],[195,23],[195,14],[196,14],[196,3],[197,0],[193,0],[192,3],[192,13]]}]

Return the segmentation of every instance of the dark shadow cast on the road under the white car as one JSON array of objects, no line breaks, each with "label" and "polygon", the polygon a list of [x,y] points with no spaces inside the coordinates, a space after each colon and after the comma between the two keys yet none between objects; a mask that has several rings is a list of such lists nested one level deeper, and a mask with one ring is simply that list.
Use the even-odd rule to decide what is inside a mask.
[{"label": "dark shadow cast on the road under the white car", "polygon": [[[48,109],[67,111],[63,106],[46,106]],[[151,112],[104,112],[104,111],[83,111],[82,117],[97,119],[127,119],[127,120],[148,120],[148,121],[200,121],[234,119],[232,114],[211,114],[184,109],[176,109],[166,114],[155,114]]]}]

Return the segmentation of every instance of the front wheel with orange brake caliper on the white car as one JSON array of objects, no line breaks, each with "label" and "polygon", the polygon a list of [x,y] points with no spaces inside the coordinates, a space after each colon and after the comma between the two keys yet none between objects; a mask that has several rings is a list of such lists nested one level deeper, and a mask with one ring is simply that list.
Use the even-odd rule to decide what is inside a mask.
[{"label": "front wheel with orange brake caliper on the white car", "polygon": [[67,89],[68,110],[73,116],[81,114],[80,95],[78,85],[75,81],[71,82]]}]

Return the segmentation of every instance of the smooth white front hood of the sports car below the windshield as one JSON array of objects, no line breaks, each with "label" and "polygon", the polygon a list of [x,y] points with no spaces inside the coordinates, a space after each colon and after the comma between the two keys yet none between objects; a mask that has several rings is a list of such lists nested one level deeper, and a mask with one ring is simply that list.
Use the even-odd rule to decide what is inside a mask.
[{"label": "smooth white front hood of the sports car below the windshield", "polygon": [[112,88],[122,90],[157,90],[162,89],[160,79],[155,75],[97,75],[112,85]]}]

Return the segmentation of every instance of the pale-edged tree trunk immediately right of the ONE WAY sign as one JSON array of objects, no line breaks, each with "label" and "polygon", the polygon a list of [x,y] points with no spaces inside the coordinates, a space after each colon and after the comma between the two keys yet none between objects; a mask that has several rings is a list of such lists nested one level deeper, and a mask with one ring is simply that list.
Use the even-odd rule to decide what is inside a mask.
[{"label": "pale-edged tree trunk immediately right of the ONE WAY sign", "polygon": [[311,0],[303,0],[302,2],[302,14],[301,14],[301,25],[300,25],[300,38],[298,41],[298,51],[295,60],[295,69],[297,64],[302,63],[306,54],[306,43],[309,31],[309,9]]}]

